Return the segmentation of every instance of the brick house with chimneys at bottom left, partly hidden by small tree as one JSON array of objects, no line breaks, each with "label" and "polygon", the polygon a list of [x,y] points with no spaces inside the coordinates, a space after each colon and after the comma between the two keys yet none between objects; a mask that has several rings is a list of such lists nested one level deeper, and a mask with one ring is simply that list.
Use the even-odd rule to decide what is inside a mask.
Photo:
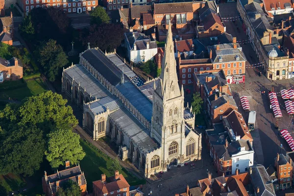
[{"label": "brick house with chimneys at bottom left, partly hidden by small tree", "polygon": [[87,194],[87,181],[79,165],[71,168],[70,162],[66,161],[65,170],[57,170],[57,172],[52,175],[47,175],[47,172],[44,173],[44,177],[42,177],[42,187],[46,196],[56,196],[58,188],[63,187],[68,180],[73,180],[78,184],[82,190],[81,196]]}]

